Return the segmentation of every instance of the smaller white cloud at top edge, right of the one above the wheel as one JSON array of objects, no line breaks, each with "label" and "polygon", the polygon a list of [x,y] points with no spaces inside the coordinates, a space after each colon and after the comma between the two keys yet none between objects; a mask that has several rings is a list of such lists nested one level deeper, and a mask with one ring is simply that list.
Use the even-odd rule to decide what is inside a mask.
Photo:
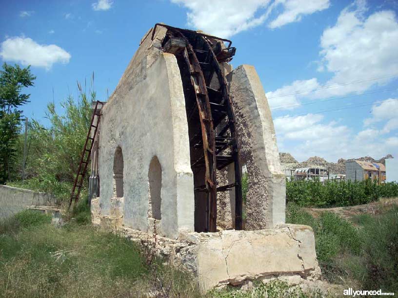
[{"label": "smaller white cloud at top edge, right of the one above the wheel", "polygon": [[302,0],[277,0],[276,5],[283,5],[283,12],[268,26],[278,28],[283,25],[297,22],[304,15],[310,15],[317,11],[329,8],[329,0],[302,1]]}]

